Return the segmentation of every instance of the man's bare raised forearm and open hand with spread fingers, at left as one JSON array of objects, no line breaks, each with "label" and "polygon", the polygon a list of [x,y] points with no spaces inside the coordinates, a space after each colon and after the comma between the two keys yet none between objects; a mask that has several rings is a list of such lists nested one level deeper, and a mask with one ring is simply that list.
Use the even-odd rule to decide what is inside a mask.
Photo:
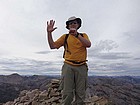
[{"label": "man's bare raised forearm and open hand with spread fingers, at left", "polygon": [[48,43],[51,49],[55,49],[56,46],[54,45],[54,40],[52,38],[52,32],[57,29],[57,27],[54,27],[55,21],[54,20],[50,20],[47,21],[46,25],[47,25],[47,36],[48,36]]}]

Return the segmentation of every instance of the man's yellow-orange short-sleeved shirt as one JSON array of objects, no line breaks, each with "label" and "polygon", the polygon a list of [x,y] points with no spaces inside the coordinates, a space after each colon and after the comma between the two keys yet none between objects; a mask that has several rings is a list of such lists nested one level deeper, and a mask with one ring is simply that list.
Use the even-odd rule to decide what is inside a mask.
[{"label": "man's yellow-orange short-sleeved shirt", "polygon": [[[62,35],[57,41],[55,41],[55,46],[57,48],[64,46],[65,36],[66,34]],[[83,37],[89,40],[87,34],[83,33]],[[78,38],[69,34],[67,38],[67,45],[68,47],[66,47],[67,51],[65,51],[64,62],[71,65],[82,65],[86,63],[87,50],[86,50],[86,47],[83,46],[83,44],[80,42]],[[72,63],[71,61],[75,61],[75,62],[85,61],[85,62],[80,63],[80,64],[75,64],[75,63]]]}]

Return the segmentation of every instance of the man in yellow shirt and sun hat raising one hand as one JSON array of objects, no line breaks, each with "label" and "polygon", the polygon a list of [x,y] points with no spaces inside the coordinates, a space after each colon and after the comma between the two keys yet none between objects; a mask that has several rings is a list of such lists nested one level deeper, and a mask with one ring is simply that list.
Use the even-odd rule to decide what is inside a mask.
[{"label": "man in yellow shirt and sun hat raising one hand", "polygon": [[69,30],[69,33],[53,41],[52,32],[57,29],[54,27],[55,21],[50,20],[47,22],[47,35],[50,48],[58,49],[61,46],[65,48],[65,60],[62,67],[62,105],[71,105],[73,101],[76,105],[85,105],[84,100],[88,74],[86,48],[91,46],[91,42],[85,33],[78,33],[81,23],[80,18],[76,18],[75,16],[70,17],[66,21],[66,28]]}]

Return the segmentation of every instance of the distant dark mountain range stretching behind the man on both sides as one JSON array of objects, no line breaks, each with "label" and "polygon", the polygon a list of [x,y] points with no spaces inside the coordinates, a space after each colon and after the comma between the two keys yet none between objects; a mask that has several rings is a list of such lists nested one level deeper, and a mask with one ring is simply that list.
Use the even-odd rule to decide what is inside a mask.
[{"label": "distant dark mountain range stretching behind the man on both sides", "polygon": [[[0,103],[13,101],[22,90],[46,90],[54,78],[60,77],[0,75]],[[90,76],[87,97],[95,95],[107,98],[112,105],[140,105],[140,77]]]}]

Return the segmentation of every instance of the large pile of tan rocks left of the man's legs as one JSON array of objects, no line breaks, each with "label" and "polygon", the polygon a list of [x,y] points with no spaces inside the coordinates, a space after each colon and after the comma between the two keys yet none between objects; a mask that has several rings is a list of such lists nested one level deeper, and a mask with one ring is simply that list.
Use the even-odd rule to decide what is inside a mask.
[{"label": "large pile of tan rocks left of the man's legs", "polygon": [[7,102],[3,105],[57,105],[60,104],[61,92],[58,91],[59,80],[52,79],[48,85],[48,90],[40,91],[34,89],[32,91],[23,90],[14,102]]}]

